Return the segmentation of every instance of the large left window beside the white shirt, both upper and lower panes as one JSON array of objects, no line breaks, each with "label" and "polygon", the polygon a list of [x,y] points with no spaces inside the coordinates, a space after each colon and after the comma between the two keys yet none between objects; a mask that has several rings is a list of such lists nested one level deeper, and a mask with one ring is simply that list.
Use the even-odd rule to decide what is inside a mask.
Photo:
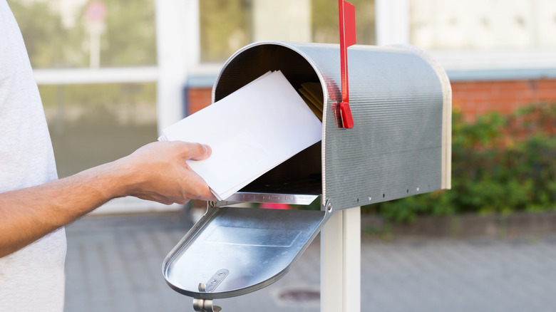
[{"label": "large left window beside the white shirt, both upper and lower panes", "polygon": [[[93,32],[88,6],[96,2],[105,14]],[[133,152],[157,137],[156,84],[93,83],[72,78],[79,68],[120,68],[156,64],[154,0],[19,0],[9,1],[24,36],[38,79],[58,176],[66,177]],[[92,48],[98,48],[93,51]],[[96,54],[96,60],[91,58]],[[93,64],[96,63],[96,66]],[[63,84],[49,77],[68,73]],[[37,71],[36,71],[37,74]],[[68,83],[68,84],[66,84]]]}]

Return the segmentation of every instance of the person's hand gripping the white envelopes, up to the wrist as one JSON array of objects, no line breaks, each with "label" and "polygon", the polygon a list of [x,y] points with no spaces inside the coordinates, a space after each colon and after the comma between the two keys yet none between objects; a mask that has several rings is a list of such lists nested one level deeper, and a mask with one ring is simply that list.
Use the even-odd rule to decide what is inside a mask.
[{"label": "person's hand gripping the white envelopes, up to the wrist", "polygon": [[118,160],[128,172],[128,195],[163,204],[185,204],[190,199],[216,200],[205,180],[186,160],[204,160],[212,150],[190,142],[153,142]]}]

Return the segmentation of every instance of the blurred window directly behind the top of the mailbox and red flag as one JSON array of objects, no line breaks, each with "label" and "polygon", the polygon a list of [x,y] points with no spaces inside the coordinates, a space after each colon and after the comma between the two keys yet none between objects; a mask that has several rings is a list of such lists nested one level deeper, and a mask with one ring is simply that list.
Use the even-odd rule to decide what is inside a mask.
[{"label": "blurred window directly behind the top of the mailbox and red flag", "polygon": [[[356,6],[357,41],[375,42],[374,1]],[[222,62],[263,40],[338,43],[338,2],[330,0],[202,0],[201,61]]]}]

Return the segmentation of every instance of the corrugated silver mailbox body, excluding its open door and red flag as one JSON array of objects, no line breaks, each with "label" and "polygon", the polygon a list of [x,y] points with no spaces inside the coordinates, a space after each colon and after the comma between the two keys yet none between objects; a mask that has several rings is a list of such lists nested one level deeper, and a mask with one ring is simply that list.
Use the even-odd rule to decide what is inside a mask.
[{"label": "corrugated silver mailbox body, excluding its open door and red flag", "polygon": [[[265,41],[246,46],[223,66],[212,100],[267,71],[282,71],[296,89],[320,83],[321,151],[296,155],[277,170],[290,172],[289,180],[320,178],[306,194],[322,194],[322,203],[333,199],[334,210],[449,188],[451,87],[443,69],[413,46],[352,46],[348,58],[353,129],[339,128],[338,45]],[[248,187],[264,185],[255,180]]]}]

